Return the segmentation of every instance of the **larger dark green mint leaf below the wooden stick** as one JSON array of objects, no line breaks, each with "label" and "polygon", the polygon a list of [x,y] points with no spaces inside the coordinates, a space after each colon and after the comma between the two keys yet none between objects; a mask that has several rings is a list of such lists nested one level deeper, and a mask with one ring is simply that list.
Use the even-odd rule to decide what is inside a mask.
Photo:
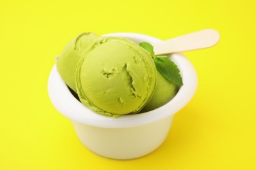
[{"label": "larger dark green mint leaf below the wooden stick", "polygon": [[154,63],[163,77],[179,87],[183,85],[180,71],[173,61],[168,58],[154,58]]}]

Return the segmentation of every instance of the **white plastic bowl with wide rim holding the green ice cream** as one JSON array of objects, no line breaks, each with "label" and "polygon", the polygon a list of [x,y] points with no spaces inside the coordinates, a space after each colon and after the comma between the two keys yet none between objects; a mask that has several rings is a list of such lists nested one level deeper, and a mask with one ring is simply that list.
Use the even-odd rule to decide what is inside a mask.
[{"label": "white plastic bowl with wide rim holding the green ice cream", "polygon": [[[161,41],[138,33],[112,33],[104,36],[124,37],[134,42]],[[139,158],[156,150],[163,143],[173,121],[173,115],[192,99],[198,86],[196,71],[181,54],[171,56],[181,71],[183,86],[166,105],[142,114],[118,118],[102,116],[85,107],[72,95],[54,65],[49,76],[48,91],[54,107],[69,118],[75,132],[91,151],[119,160]]]}]

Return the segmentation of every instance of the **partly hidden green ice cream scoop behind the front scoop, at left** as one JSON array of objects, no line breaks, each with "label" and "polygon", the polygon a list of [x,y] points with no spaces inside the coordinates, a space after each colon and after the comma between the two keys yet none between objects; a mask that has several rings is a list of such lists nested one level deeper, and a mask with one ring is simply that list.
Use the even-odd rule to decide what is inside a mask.
[{"label": "partly hidden green ice cream scoop behind the front scoop, at left", "polygon": [[62,54],[56,58],[56,67],[58,73],[66,84],[76,92],[75,73],[79,60],[89,52],[96,44],[102,41],[102,37],[94,33],[82,33],[77,36],[62,51]]}]

